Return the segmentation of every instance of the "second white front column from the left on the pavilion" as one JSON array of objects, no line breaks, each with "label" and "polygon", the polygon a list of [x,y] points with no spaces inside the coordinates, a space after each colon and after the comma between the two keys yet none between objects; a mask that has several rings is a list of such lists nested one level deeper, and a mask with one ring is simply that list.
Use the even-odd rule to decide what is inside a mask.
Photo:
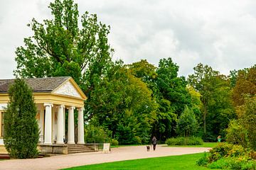
[{"label": "second white front column from the left on the pavilion", "polygon": [[64,121],[63,121],[63,108],[65,106],[63,105],[60,105],[58,106],[58,122],[57,122],[57,144],[64,144],[63,142],[63,135],[64,135],[64,129],[63,129],[63,124],[64,124]]}]

